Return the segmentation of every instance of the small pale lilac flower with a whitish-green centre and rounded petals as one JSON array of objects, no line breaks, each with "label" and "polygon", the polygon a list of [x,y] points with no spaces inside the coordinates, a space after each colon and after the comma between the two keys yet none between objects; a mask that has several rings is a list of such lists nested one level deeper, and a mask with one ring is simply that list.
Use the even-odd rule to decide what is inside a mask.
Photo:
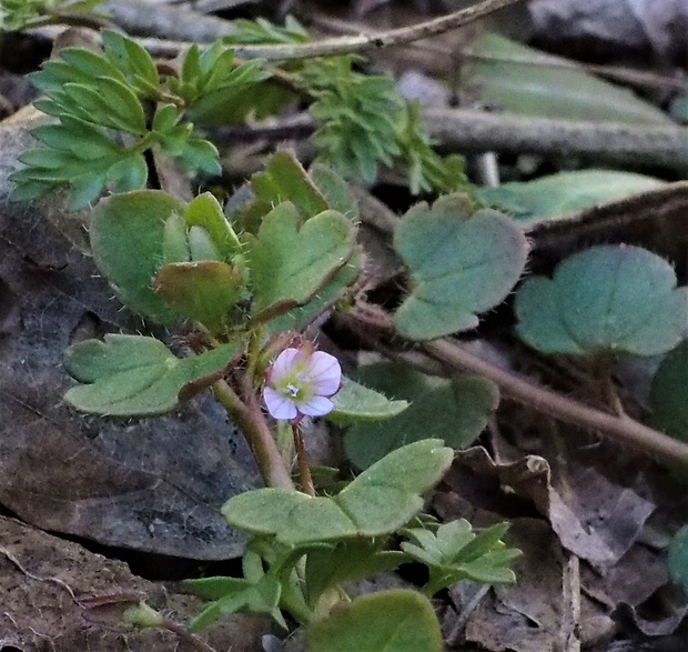
[{"label": "small pale lilac flower with a whitish-green centre and rounded petals", "polygon": [[275,419],[297,422],[331,412],[331,398],[341,387],[342,368],[334,355],[310,345],[284,349],[265,372],[263,400]]}]

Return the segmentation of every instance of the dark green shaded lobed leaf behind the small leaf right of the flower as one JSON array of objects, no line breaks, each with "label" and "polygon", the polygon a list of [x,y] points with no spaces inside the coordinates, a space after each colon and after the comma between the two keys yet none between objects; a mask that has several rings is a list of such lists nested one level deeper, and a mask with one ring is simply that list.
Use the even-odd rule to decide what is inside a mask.
[{"label": "dark green shaded lobed leaf behind the small leaf right of the flower", "polygon": [[425,437],[464,449],[480,434],[499,400],[497,388],[485,379],[445,380],[392,362],[365,367],[356,380],[385,397],[411,403],[397,417],[380,422],[358,421],[346,431],[346,454],[358,469]]}]

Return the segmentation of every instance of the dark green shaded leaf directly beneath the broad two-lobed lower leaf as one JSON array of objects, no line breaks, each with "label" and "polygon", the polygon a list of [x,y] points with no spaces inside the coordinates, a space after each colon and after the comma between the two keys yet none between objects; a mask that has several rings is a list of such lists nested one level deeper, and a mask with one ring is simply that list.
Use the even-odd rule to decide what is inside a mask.
[{"label": "dark green shaded leaf directly beneath the broad two-lobed lower leaf", "polygon": [[384,540],[353,539],[310,551],[305,568],[308,604],[315,606],[331,586],[393,571],[406,561],[403,552],[382,550],[383,543]]}]

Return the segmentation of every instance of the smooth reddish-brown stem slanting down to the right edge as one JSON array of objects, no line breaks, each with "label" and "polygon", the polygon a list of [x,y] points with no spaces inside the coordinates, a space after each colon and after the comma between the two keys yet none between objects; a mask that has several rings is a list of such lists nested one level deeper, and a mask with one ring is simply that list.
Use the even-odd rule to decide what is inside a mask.
[{"label": "smooth reddish-brown stem slanting down to the right edge", "polygon": [[629,418],[619,418],[600,410],[588,408],[577,401],[536,385],[533,382],[500,369],[468,352],[449,340],[435,340],[424,344],[425,351],[454,369],[478,373],[495,382],[513,399],[532,405],[555,419],[597,430],[609,437],[631,444],[666,462],[688,468],[688,444],[671,439]]}]

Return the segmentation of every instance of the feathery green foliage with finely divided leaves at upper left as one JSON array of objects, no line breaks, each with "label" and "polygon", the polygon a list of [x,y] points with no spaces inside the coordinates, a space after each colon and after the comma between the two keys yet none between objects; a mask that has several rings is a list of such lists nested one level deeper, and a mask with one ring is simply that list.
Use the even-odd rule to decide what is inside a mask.
[{"label": "feathery green foliage with finely divided leaves at upper left", "polygon": [[337,173],[372,182],[380,163],[398,162],[415,193],[466,188],[461,159],[443,161],[433,151],[391,78],[356,72],[355,58],[335,57],[283,70],[276,81],[264,62],[236,61],[231,44],[303,42],[306,32],[294,20],[283,29],[265,21],[239,27],[203,51],[192,46],[179,72],[165,77],[133,39],[109,30],[102,54],[68,48],[44,63],[30,78],[44,96],[36,107],[54,121],[32,130],[42,147],[23,154],[12,198],[67,187],[75,210],[105,188],[144,188],[153,148],[191,174],[219,174],[217,150],[198,131],[267,116],[296,92],[311,100],[321,124],[313,138],[320,160]]}]

